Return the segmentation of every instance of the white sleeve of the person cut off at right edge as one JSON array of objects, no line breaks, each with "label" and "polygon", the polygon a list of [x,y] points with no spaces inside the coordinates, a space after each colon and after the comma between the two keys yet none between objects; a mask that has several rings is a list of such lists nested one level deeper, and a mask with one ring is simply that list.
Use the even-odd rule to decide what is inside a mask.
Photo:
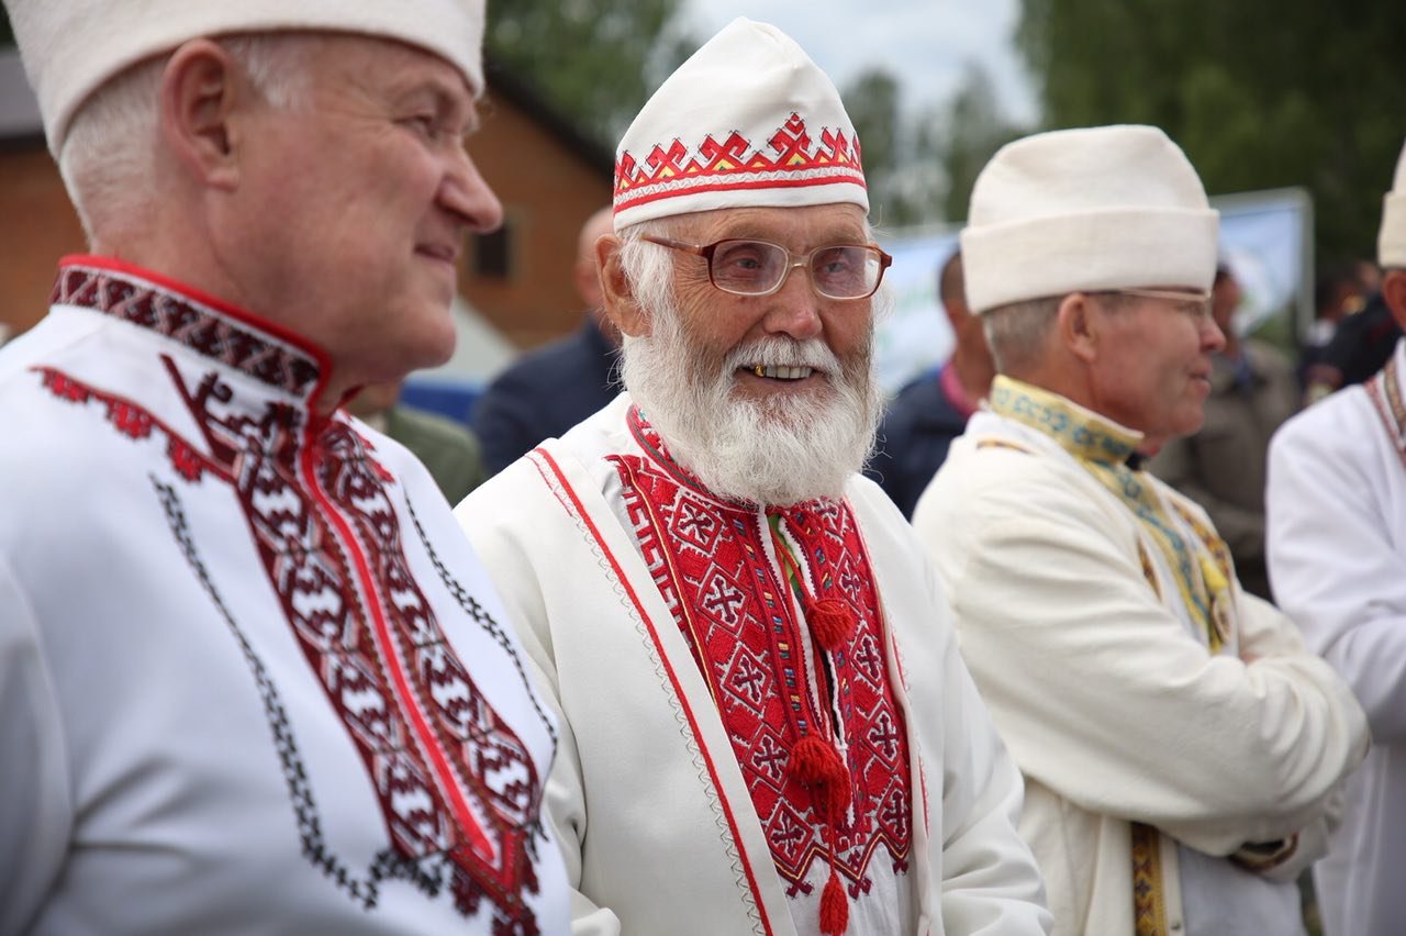
[{"label": "white sleeve of the person cut off at right edge", "polygon": [[[1372,738],[1395,745],[1406,741],[1406,554],[1398,540],[1406,530],[1392,530],[1384,479],[1364,464],[1375,453],[1362,451],[1361,433],[1381,427],[1322,426],[1320,413],[1334,410],[1316,410],[1303,413],[1312,420],[1285,424],[1270,446],[1274,596],[1353,687]],[[1389,468],[1406,476],[1402,465]]]}]

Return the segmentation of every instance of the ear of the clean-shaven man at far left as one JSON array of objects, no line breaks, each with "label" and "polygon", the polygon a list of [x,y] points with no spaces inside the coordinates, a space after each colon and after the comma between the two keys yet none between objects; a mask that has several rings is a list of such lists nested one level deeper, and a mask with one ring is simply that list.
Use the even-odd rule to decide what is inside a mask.
[{"label": "ear of the clean-shaven man at far left", "polygon": [[231,117],[242,103],[238,66],[209,39],[181,45],[162,73],[162,135],[195,180],[219,188],[239,181]]}]

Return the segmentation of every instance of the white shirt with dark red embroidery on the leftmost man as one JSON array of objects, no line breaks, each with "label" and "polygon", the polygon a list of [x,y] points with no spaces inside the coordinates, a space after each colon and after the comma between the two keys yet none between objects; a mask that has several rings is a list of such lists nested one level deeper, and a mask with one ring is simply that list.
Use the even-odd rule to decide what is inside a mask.
[{"label": "white shirt with dark red embroidery on the leftmost man", "polygon": [[567,930],[554,718],[328,367],[96,257],[0,351],[0,932]]}]

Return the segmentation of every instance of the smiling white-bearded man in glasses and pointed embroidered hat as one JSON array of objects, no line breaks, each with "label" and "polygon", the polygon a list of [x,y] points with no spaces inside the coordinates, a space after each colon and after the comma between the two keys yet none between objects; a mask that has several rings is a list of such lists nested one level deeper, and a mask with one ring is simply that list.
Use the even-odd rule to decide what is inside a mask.
[{"label": "smiling white-bearded man in glasses and pointed embroidered hat", "polygon": [[457,510],[562,725],[578,933],[1052,925],[936,579],[858,474],[866,214],[834,84],[730,24],[617,152],[626,392]]}]

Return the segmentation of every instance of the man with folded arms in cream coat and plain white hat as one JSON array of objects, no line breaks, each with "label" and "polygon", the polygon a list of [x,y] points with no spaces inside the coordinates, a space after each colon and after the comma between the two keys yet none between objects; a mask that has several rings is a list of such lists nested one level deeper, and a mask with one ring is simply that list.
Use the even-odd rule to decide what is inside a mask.
[{"label": "man with folded arms in cream coat and plain white hat", "polygon": [[1295,877],[1367,743],[1206,514],[1142,469],[1201,426],[1216,229],[1175,143],[1102,126],[1002,148],[962,232],[998,377],[914,524],[1025,774],[1056,933],[1302,933]]}]

